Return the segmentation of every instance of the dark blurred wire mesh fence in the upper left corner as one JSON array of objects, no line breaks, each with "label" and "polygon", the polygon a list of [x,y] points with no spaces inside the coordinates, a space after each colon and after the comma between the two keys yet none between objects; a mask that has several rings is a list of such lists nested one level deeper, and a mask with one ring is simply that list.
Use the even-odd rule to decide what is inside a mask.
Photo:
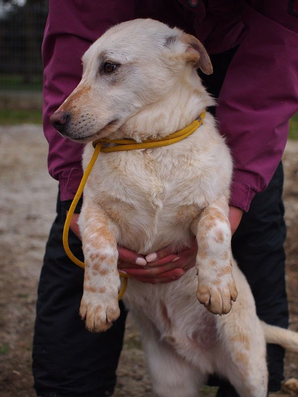
[{"label": "dark blurred wire mesh fence in the upper left corner", "polygon": [[42,89],[47,0],[0,0],[0,91]]}]

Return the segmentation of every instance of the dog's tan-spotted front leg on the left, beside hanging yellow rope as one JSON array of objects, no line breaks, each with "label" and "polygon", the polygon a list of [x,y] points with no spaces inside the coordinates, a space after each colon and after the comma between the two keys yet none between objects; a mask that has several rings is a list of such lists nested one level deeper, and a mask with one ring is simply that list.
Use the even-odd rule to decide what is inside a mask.
[{"label": "dog's tan-spotted front leg on the left, beside hanging yellow rope", "polygon": [[79,313],[85,319],[89,331],[106,331],[120,315],[120,279],[115,233],[99,205],[85,198],[78,224],[85,262],[84,289]]}]

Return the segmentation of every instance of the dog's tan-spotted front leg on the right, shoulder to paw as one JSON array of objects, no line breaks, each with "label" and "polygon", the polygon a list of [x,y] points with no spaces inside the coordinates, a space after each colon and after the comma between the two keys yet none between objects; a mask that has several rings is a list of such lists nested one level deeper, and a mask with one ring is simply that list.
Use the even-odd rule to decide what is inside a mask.
[{"label": "dog's tan-spotted front leg on the right, shoulder to paw", "polygon": [[197,236],[197,298],[214,314],[226,314],[237,289],[232,276],[231,231],[224,196],[206,207],[192,223]]}]

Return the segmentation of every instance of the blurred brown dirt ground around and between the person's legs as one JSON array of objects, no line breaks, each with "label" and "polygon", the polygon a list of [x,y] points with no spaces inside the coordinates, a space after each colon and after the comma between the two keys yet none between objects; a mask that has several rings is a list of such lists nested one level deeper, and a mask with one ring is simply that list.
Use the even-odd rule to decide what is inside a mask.
[{"label": "blurred brown dirt ground around and between the person's legs", "polygon": [[[46,157],[47,142],[39,126],[0,127],[1,397],[35,396],[31,348],[36,290],[57,195]],[[291,329],[298,331],[298,141],[288,143],[284,166],[287,285]],[[285,376],[298,378],[298,355],[287,354]],[[215,392],[205,388],[204,396],[212,397]],[[139,334],[130,320],[114,396],[153,396]]]}]

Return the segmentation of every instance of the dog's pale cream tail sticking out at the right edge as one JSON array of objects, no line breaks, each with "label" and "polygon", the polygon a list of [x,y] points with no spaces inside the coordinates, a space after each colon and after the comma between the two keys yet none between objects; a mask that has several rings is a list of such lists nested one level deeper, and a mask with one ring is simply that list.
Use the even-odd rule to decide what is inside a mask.
[{"label": "dog's pale cream tail sticking out at the right edge", "polygon": [[276,343],[285,349],[298,353],[298,333],[281,327],[271,326],[261,321],[267,343]]}]

